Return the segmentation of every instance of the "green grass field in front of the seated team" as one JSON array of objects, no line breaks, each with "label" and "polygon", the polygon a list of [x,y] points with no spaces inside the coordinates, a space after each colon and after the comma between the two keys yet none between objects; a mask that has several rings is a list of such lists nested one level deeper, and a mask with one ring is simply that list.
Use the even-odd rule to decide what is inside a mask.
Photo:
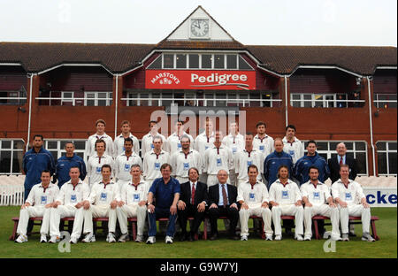
[{"label": "green grass field in front of the seated team", "polygon": [[[372,215],[379,216],[376,222],[380,241],[362,242],[360,235],[350,242],[337,242],[336,252],[325,253],[325,240],[297,242],[285,237],[280,242],[265,242],[251,234],[248,242],[231,241],[221,236],[218,241],[174,242],[165,244],[164,235],[157,237],[157,243],[107,243],[103,235],[96,236],[97,242],[71,245],[70,253],[60,253],[57,244],[39,243],[40,234],[29,237],[29,242],[17,244],[8,241],[12,232],[12,217],[19,216],[19,207],[0,207],[0,257],[41,257],[41,258],[396,258],[397,257],[397,209],[373,208]],[[250,219],[251,221],[251,219]],[[219,220],[219,229],[223,228]],[[34,231],[38,231],[34,226]],[[330,226],[326,226],[330,230]],[[356,234],[362,227],[356,226]]]}]

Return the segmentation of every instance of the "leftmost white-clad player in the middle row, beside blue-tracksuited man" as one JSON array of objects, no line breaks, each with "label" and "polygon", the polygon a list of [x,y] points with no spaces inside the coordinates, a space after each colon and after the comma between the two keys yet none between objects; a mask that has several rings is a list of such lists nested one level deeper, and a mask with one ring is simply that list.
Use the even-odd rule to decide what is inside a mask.
[{"label": "leftmost white-clad player in the middle row, beside blue-tracksuited man", "polygon": [[111,165],[113,169],[115,162],[113,158],[105,154],[106,143],[103,140],[96,141],[96,155],[91,156],[87,162],[88,184],[90,188],[94,183],[103,179],[101,167],[103,165]]}]

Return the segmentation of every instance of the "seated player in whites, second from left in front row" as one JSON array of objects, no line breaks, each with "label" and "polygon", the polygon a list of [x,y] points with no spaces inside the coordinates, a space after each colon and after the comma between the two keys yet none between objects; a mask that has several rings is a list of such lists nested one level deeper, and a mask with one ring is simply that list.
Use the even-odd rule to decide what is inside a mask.
[{"label": "seated player in whites, second from left in front row", "polygon": [[[83,211],[83,201],[88,198],[90,188],[87,183],[80,180],[79,167],[71,167],[69,170],[71,180],[62,185],[57,199],[50,210],[50,242],[59,242],[59,221],[66,217],[75,217],[76,212]],[[80,220],[79,220],[80,219]],[[83,217],[75,217],[71,243],[76,243],[81,234]]]}]

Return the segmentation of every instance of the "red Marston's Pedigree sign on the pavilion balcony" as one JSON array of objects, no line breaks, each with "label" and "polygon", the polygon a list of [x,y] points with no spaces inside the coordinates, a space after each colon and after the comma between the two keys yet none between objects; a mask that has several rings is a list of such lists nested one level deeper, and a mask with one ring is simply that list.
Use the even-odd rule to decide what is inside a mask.
[{"label": "red Marston's Pedigree sign on the pavilion balcony", "polygon": [[255,71],[147,70],[147,89],[255,90]]}]

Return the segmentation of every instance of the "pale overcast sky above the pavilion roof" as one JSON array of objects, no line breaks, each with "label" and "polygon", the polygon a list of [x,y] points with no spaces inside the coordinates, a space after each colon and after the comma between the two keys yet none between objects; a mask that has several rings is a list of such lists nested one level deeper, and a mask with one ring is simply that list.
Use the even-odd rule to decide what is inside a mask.
[{"label": "pale overcast sky above the pavilion roof", "polygon": [[198,5],[245,45],[397,46],[396,0],[0,0],[0,42],[157,43]]}]

